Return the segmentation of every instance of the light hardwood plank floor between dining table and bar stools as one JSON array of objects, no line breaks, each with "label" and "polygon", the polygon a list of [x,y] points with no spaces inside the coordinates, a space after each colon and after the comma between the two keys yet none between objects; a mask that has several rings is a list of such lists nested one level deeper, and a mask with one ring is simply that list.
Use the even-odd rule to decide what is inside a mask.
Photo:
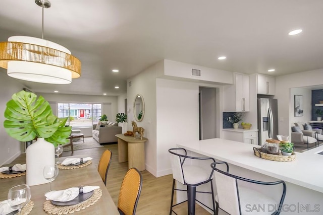
[{"label": "light hardwood plank floor between dining table and bar stools", "polygon": [[[126,172],[128,171],[128,162],[118,163],[117,144],[109,144],[103,146],[104,147],[102,148],[75,150],[73,155],[84,155],[86,157],[92,157],[92,165],[95,165],[97,167],[103,151],[106,149],[110,149],[112,151],[112,162],[109,168],[109,172],[107,173],[106,188],[111,194],[115,204],[117,205],[121,182]],[[71,156],[71,152],[63,152],[62,156]],[[24,159],[25,156],[24,154],[22,154],[15,160],[15,163],[25,163]],[[146,170],[142,171],[141,174],[143,183],[136,214],[169,214],[173,183],[172,175],[156,178]],[[183,203],[181,205],[178,205],[174,210],[179,215],[185,215],[187,214],[187,204]],[[210,213],[196,204],[195,214],[204,215]]]}]

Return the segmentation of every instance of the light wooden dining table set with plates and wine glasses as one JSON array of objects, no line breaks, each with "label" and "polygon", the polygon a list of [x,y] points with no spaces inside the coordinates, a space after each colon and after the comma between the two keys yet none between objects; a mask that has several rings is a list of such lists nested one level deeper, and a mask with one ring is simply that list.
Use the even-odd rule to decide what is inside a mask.
[{"label": "light wooden dining table set with plates and wine glasses", "polygon": [[[72,156],[73,158],[82,158],[82,156]],[[64,160],[67,157],[60,158]],[[71,157],[69,157],[71,158]],[[13,164],[12,164],[13,165]],[[7,166],[7,165],[4,165]],[[6,200],[8,191],[11,187],[19,184],[26,183],[26,176],[19,176],[14,178],[0,178],[0,201]],[[64,190],[70,187],[80,186],[100,186],[102,190],[102,196],[93,205],[74,212],[78,214],[108,214],[108,215],[119,215],[117,206],[115,205],[110,193],[107,191],[99,173],[97,167],[92,164],[76,168],[59,170],[58,177],[52,181],[52,190]],[[44,194],[49,191],[49,183],[30,186],[31,188],[31,200],[34,202],[34,207],[29,214],[48,214],[43,210],[43,203],[45,202]],[[72,213],[73,214],[73,213]]]}]

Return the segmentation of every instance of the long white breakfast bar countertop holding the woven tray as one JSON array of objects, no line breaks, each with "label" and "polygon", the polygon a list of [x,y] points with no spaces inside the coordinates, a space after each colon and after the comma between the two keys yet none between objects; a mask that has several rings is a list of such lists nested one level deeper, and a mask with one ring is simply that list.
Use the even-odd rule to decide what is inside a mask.
[{"label": "long white breakfast bar countertop holding the woven tray", "polygon": [[291,162],[256,157],[253,153],[254,145],[220,138],[184,142],[178,146],[323,193],[323,155],[315,154],[323,151],[323,146],[296,153],[296,159]]}]

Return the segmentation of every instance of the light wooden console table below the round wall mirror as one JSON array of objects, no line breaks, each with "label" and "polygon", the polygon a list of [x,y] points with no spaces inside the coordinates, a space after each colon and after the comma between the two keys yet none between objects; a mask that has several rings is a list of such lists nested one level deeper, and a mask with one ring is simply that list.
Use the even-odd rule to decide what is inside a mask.
[{"label": "light wooden console table below the round wall mirror", "polygon": [[118,161],[128,161],[128,168],[135,167],[139,171],[145,170],[145,141],[143,137],[137,139],[134,136],[125,136],[123,133],[116,134],[118,137]]}]

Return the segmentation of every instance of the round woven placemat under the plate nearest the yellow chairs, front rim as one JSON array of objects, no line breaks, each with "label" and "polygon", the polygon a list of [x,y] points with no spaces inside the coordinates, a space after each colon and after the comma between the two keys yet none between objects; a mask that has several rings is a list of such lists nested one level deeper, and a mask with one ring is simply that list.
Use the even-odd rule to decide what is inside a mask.
[{"label": "round woven placemat under the plate nearest the yellow chairs, front rim", "polygon": [[50,200],[46,200],[44,202],[44,210],[48,214],[68,214],[68,213],[74,213],[76,211],[84,210],[87,207],[93,205],[97,200],[101,198],[102,195],[102,190],[101,189],[96,189],[93,192],[93,195],[86,199],[85,201],[74,204],[74,205],[69,205],[69,206],[59,206],[52,204]]}]

